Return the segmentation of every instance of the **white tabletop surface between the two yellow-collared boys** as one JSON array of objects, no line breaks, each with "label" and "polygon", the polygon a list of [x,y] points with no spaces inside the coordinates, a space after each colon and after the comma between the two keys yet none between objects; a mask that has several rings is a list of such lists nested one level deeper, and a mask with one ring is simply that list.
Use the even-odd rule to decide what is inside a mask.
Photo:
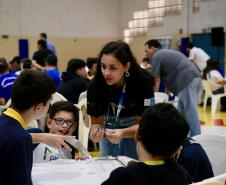
[{"label": "white tabletop surface between the two yellow-collared boys", "polygon": [[[122,157],[120,160],[129,159]],[[122,163],[113,158],[85,161],[59,159],[50,163],[34,164],[32,180],[34,185],[99,185],[109,177],[111,171],[120,166],[123,166]]]}]

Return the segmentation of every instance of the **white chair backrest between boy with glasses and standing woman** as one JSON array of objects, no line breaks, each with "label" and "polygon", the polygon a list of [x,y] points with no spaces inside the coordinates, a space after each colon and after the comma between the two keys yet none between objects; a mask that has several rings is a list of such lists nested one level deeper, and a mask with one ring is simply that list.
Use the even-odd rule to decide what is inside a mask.
[{"label": "white chair backrest between boy with glasses and standing woman", "polygon": [[83,97],[78,102],[79,108],[79,126],[78,126],[78,139],[83,146],[88,148],[89,130],[91,126],[90,116],[87,114],[87,98]]}]

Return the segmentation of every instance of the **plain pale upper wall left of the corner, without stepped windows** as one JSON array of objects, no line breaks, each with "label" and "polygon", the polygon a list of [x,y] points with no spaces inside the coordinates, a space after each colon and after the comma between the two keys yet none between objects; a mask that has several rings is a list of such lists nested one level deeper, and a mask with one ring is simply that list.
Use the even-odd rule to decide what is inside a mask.
[{"label": "plain pale upper wall left of the corner, without stepped windows", "polygon": [[119,36],[119,0],[0,0],[0,34]]}]

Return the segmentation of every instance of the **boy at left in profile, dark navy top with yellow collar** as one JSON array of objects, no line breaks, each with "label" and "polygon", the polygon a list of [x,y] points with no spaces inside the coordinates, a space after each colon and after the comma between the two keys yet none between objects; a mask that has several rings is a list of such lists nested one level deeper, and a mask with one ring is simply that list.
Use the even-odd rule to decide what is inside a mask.
[{"label": "boy at left in profile, dark navy top with yellow collar", "polygon": [[0,184],[32,185],[33,136],[25,129],[47,112],[54,92],[53,80],[37,71],[25,70],[15,80],[11,107],[0,116]]}]

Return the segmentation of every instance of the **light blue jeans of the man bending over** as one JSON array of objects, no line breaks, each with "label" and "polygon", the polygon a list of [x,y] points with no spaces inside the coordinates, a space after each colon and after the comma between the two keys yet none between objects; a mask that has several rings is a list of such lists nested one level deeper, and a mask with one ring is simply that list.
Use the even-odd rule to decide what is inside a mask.
[{"label": "light blue jeans of the man bending over", "polygon": [[197,112],[198,93],[200,89],[201,78],[195,78],[187,87],[178,93],[179,103],[177,109],[185,116],[185,119],[189,124],[190,137],[201,133]]}]

